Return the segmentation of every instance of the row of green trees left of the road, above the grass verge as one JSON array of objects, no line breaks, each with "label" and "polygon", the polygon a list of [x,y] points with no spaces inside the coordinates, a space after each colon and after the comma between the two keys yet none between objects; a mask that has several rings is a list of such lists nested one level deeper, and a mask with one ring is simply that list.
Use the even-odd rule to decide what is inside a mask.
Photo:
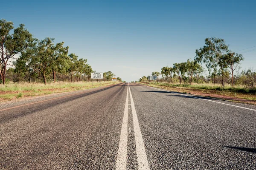
[{"label": "row of green trees left of the road, above the grass verge", "polygon": [[[0,83],[90,82],[91,73],[96,71],[87,59],[70,53],[64,42],[54,40],[38,40],[24,24],[14,28],[12,22],[0,20]],[[115,74],[106,71],[103,77],[103,81],[110,81]],[[122,81],[120,77],[117,80]]]}]

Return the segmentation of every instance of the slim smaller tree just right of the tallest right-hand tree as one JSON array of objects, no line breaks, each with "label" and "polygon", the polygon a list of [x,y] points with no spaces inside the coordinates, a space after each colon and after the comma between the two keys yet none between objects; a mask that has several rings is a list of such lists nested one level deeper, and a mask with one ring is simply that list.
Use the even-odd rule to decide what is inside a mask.
[{"label": "slim smaller tree just right of the tallest right-hand tree", "polygon": [[235,54],[235,52],[230,51],[228,54],[225,55],[225,60],[227,61],[227,67],[230,68],[231,86],[233,87],[234,71],[240,65],[240,62],[244,60],[244,57],[242,54]]}]

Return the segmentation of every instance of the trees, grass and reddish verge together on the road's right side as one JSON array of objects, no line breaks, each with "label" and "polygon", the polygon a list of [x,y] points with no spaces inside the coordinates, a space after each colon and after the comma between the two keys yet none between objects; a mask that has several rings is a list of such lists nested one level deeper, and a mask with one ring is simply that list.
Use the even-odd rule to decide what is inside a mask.
[{"label": "trees, grass and reddish verge together on the road's right side", "polygon": [[228,47],[223,39],[206,38],[204,47],[196,49],[194,59],[152,72],[156,80],[143,76],[135,82],[184,93],[256,101],[256,71],[253,68],[241,70],[243,55]]}]

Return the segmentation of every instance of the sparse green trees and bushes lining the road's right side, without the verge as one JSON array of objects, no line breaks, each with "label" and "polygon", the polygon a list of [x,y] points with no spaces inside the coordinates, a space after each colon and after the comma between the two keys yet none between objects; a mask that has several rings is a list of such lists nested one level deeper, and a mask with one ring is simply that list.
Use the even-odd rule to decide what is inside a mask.
[{"label": "sparse green trees and bushes lining the road's right side, without the verge", "polygon": [[[242,87],[244,91],[256,92],[256,71],[253,68],[241,70],[244,57],[231,51],[223,39],[206,38],[204,47],[196,49],[195,54],[193,60],[163,67],[161,73],[155,71],[152,76],[157,76],[157,82],[168,82],[175,86],[213,84],[220,85],[220,88]],[[208,76],[205,76],[207,73]],[[138,81],[150,80],[143,76]]]}]

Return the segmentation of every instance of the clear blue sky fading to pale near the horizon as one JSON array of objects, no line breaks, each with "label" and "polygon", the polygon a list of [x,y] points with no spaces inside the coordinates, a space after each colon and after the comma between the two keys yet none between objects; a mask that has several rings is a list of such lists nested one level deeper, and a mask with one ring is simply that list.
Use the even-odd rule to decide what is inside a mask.
[{"label": "clear blue sky fading to pale near the horizon", "polygon": [[193,59],[206,37],[223,38],[244,55],[243,69],[256,69],[255,0],[6,0],[0,18],[127,82]]}]

